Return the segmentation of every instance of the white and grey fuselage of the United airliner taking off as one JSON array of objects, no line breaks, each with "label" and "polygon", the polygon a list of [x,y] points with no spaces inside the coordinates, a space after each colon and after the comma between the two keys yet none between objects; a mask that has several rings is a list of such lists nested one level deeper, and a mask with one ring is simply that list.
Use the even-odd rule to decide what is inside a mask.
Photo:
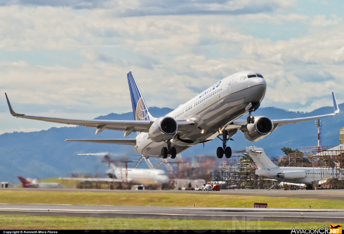
[{"label": "white and grey fuselage of the United airliner taking off", "polygon": [[[176,121],[192,118],[197,123],[179,134],[179,138],[188,143],[176,137],[171,140],[177,153],[215,139],[224,126],[248,113],[249,103],[260,104],[266,93],[266,81],[260,77],[248,78],[250,75],[256,72],[230,75],[166,115]],[[160,157],[162,147],[167,147],[167,143],[152,141],[148,133],[141,132],[136,137],[135,151],[143,156]]]}]

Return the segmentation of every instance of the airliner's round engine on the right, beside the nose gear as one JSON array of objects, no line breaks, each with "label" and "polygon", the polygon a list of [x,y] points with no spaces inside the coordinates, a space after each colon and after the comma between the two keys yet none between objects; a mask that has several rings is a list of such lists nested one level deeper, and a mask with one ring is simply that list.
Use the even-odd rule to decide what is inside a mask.
[{"label": "airliner's round engine on the right, beside the nose gear", "polygon": [[246,125],[244,135],[247,140],[255,142],[268,136],[272,129],[272,121],[268,117],[259,116],[255,118],[255,123]]}]

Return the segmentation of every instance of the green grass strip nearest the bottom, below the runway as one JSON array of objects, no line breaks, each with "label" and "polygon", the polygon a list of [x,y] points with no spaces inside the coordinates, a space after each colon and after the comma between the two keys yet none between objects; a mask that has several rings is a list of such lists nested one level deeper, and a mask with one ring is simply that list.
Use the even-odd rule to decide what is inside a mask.
[{"label": "green grass strip nearest the bottom, below the runway", "polygon": [[66,216],[0,215],[1,229],[291,229],[319,228],[328,223],[267,221],[163,220]]}]

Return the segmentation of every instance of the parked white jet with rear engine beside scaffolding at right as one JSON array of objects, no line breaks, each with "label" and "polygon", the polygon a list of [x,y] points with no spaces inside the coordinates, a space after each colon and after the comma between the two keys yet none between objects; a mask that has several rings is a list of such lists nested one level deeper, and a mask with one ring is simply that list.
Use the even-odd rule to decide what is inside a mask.
[{"label": "parked white jet with rear engine beside scaffolding at right", "polygon": [[324,167],[282,167],[275,165],[266,156],[262,148],[255,146],[246,147],[246,152],[251,156],[259,170],[256,175],[266,176],[281,182],[294,184],[307,184],[308,188],[312,188],[314,183],[320,181],[337,178],[344,179],[344,170],[336,168]]}]

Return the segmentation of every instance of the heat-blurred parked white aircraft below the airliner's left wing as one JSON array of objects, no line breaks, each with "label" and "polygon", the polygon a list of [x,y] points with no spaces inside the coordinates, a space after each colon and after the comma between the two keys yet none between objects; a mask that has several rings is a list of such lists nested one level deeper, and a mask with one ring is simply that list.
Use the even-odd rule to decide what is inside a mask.
[{"label": "heat-blurred parked white aircraft below the airliner's left wing", "polygon": [[[165,174],[163,170],[159,169],[137,169],[119,167],[115,165],[115,162],[110,158],[108,153],[90,153],[90,154],[78,154],[78,155],[96,155],[102,156],[103,162],[107,162],[108,170],[106,174],[110,178],[116,177],[118,181],[127,181],[134,184],[163,184],[169,182],[169,177]],[[88,178],[89,179],[89,178]],[[104,178],[94,178],[93,181],[111,181]]]}]

